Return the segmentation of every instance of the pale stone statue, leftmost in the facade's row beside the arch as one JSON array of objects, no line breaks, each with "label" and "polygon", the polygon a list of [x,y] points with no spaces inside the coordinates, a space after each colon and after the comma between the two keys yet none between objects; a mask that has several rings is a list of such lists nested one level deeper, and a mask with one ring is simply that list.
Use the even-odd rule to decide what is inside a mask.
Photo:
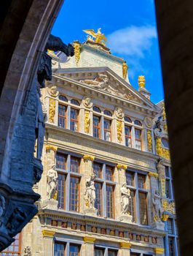
[{"label": "pale stone statue, leftmost in the facade's row beside the arch", "polygon": [[58,186],[58,173],[55,170],[55,165],[52,166],[47,172],[47,197],[52,199],[57,191]]}]

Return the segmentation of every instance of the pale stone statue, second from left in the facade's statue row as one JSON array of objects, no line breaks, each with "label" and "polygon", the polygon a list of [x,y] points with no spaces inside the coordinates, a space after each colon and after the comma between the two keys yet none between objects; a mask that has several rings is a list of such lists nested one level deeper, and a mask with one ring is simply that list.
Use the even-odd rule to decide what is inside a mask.
[{"label": "pale stone statue, second from left in the facade's statue row", "polygon": [[96,194],[95,194],[95,173],[92,173],[90,178],[86,181],[86,191],[84,193],[85,202],[86,205],[89,208],[95,208],[95,200],[96,200]]}]

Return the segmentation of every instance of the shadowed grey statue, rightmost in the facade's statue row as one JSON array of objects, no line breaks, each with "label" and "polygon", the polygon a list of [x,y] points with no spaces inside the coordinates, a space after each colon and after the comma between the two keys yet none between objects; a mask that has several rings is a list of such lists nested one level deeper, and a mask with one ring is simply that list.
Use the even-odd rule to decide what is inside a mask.
[{"label": "shadowed grey statue, rightmost in the facade's statue row", "polygon": [[159,195],[159,191],[156,190],[152,197],[153,203],[153,216],[155,222],[161,222],[162,220],[162,205],[161,205],[161,197]]}]

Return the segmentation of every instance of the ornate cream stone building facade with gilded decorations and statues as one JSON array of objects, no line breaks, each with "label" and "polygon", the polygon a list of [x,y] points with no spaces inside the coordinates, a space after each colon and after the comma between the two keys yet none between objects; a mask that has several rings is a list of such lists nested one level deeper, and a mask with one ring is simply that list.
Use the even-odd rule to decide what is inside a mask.
[{"label": "ornate cream stone building facade with gilded decorations and statues", "polygon": [[178,256],[163,102],[100,39],[74,49],[64,63],[50,53],[42,89],[39,213],[1,255]]}]

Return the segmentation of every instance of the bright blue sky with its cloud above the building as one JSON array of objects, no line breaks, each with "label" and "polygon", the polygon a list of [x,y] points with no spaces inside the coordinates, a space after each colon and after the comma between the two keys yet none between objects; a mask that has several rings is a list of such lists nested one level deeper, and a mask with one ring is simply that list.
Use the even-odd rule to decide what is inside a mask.
[{"label": "bright blue sky with its cloud above the building", "polygon": [[163,99],[154,0],[66,0],[52,34],[63,42],[84,42],[83,29],[101,28],[111,53],[127,61],[130,83],[145,75],[154,103]]}]

